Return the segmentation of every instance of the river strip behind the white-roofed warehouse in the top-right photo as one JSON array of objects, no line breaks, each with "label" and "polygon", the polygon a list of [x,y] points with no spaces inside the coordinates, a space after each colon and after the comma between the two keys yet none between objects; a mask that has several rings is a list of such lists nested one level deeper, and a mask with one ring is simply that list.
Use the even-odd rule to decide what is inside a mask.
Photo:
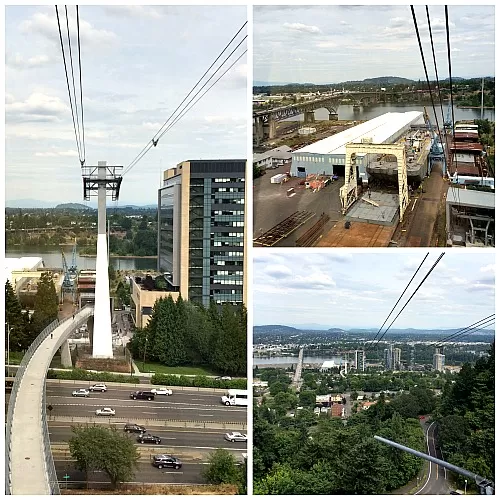
[{"label": "river strip behind the white-roofed warehouse in the top-right photo", "polygon": [[[425,104],[425,108],[427,109],[427,113],[429,114],[429,118],[431,123],[435,123],[436,119],[434,118],[434,112],[432,110],[432,106],[430,103]],[[384,113],[403,113],[406,111],[423,111],[424,104],[394,104],[394,103],[386,103],[386,104],[373,104],[370,106],[361,107],[360,110],[354,111],[352,108],[352,104],[341,104],[337,110],[339,115],[339,120],[371,120],[377,116],[383,115]],[[436,112],[438,115],[439,125],[442,125],[443,119],[441,117],[441,111],[439,108],[436,108]],[[448,104],[443,107],[444,118],[446,120],[448,113]],[[457,108],[453,106],[453,113],[455,115],[455,121],[458,120],[477,120],[481,118],[481,110],[480,109],[464,109]],[[325,108],[317,109],[314,111],[314,118],[318,121],[328,120],[328,110]],[[450,114],[451,119],[451,114]],[[488,119],[490,121],[495,121],[495,110],[494,109],[485,109],[484,110],[484,119]],[[294,116],[292,118],[288,118],[284,121],[303,121],[304,115]]]}]

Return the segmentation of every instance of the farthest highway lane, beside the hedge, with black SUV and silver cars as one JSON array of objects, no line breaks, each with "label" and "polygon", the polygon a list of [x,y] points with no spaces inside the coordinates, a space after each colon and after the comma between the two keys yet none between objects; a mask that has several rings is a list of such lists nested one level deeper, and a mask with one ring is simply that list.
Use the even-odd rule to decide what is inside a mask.
[{"label": "farthest highway lane, beside the hedge, with black SUV and silver cars", "polygon": [[[47,381],[47,386],[46,386],[46,394],[47,395],[54,395],[54,396],[71,396],[71,393],[76,390],[76,389],[88,389],[92,383],[76,383],[75,385],[72,384],[59,384],[59,383],[50,383],[50,381]],[[154,386],[151,386],[150,388],[153,388]],[[220,398],[221,396],[224,395],[223,392],[218,392],[218,393],[212,393],[212,392],[205,392],[205,391],[196,391],[196,390],[185,390],[185,391],[180,391],[176,390],[175,387],[169,387],[169,389],[172,389],[172,396],[156,396],[155,400],[160,400],[160,401],[168,401],[169,399],[175,399],[175,401],[181,402],[181,403],[188,403],[188,402],[198,402],[198,403],[206,403],[206,404],[214,404],[214,402],[217,402],[220,404]],[[100,396],[108,396],[110,398],[115,398],[115,399],[129,399],[130,394],[132,392],[135,392],[139,390],[137,387],[134,386],[129,386],[129,387],[108,387],[108,390],[106,392],[91,392],[90,397],[100,397]],[[140,390],[149,390],[149,389],[140,389]]]}]

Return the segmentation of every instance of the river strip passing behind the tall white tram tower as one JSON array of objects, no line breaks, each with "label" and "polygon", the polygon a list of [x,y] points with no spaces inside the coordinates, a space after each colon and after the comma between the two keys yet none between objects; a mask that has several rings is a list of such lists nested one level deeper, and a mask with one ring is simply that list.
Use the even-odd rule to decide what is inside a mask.
[{"label": "river strip passing behind the tall white tram tower", "polygon": [[[64,248],[64,255],[68,266],[71,266],[73,247],[71,245],[61,247]],[[7,248],[5,257],[41,257],[45,267],[62,268],[61,249],[59,247],[19,247]],[[134,257],[110,257],[110,264],[118,271],[146,271],[156,270],[156,257],[154,258],[134,258]],[[82,257],[78,253],[76,255],[76,265],[78,269],[95,269],[95,257]]]}]

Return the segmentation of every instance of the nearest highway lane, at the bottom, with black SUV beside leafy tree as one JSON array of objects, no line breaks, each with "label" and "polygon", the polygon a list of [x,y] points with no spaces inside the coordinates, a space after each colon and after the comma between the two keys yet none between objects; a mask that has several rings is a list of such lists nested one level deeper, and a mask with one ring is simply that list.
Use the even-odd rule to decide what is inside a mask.
[{"label": "nearest highway lane, at the bottom, with black SUV beside leafy tree", "polygon": [[[75,462],[65,460],[55,460],[57,479],[62,482],[64,487],[66,480],[87,481],[87,474],[75,468]],[[139,463],[135,470],[135,478],[132,483],[165,483],[165,484],[205,484],[202,472],[206,464],[187,464],[183,463],[179,470],[175,469],[157,469],[150,463]],[[66,479],[65,476],[69,476]],[[110,484],[108,477],[103,472],[89,472],[89,486],[99,487]],[[97,483],[97,484],[93,484]]]}]

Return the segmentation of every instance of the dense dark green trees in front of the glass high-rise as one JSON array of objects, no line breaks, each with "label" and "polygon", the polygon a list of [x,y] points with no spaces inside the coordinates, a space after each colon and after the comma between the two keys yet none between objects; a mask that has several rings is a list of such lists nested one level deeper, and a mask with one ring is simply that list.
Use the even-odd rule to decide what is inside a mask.
[{"label": "dense dark green trees in front of the glass high-rise", "polygon": [[169,295],[159,299],[147,326],[129,344],[133,356],[166,366],[205,366],[246,376],[246,310],[212,302],[208,308]]}]

